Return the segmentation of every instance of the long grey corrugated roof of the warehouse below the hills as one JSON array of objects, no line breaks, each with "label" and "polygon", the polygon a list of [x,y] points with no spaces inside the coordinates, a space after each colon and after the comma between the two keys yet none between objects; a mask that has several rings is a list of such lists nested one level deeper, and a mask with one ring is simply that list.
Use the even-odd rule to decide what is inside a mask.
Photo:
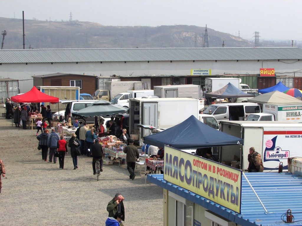
[{"label": "long grey corrugated roof of the warehouse below the hills", "polygon": [[302,59],[297,47],[153,48],[153,49],[13,49],[0,50],[0,63]]}]

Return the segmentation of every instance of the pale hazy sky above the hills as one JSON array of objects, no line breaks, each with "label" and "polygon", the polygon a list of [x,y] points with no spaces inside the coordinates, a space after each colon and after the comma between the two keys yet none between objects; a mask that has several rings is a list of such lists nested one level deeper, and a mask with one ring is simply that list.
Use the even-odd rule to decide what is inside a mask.
[{"label": "pale hazy sky above the hills", "polygon": [[[301,0],[1,0],[0,17],[104,26],[195,25],[243,39],[302,41]],[[9,30],[9,29],[6,29]]]}]

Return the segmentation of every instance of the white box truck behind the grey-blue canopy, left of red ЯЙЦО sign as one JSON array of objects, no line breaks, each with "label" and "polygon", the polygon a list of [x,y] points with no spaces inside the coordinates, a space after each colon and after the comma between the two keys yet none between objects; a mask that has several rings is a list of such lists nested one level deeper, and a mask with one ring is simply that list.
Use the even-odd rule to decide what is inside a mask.
[{"label": "white box truck behind the grey-blue canopy, left of red \u042f\u0419\u0426\u041e sign", "polygon": [[240,89],[240,78],[205,78],[204,88],[209,89],[209,92],[216,91],[221,89],[223,86],[226,86],[228,83],[231,83],[236,88]]}]

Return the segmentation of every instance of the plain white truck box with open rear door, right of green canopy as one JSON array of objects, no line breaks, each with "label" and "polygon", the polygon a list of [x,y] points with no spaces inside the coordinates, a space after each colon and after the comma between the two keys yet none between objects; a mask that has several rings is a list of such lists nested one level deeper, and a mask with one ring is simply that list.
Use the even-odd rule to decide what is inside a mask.
[{"label": "plain white truck box with open rear door, right of green canopy", "polygon": [[199,116],[199,100],[192,98],[140,98],[129,100],[129,133],[142,145],[150,130],[137,127],[152,125],[159,129],[175,126],[191,115]]}]

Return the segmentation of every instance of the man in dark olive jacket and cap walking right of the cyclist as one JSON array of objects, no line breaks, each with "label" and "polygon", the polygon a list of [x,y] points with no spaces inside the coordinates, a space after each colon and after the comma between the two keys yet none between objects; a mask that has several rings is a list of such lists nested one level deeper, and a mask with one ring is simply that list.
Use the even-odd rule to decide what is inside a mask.
[{"label": "man in dark olive jacket and cap walking right of the cyclist", "polygon": [[124,152],[127,154],[126,161],[127,161],[127,170],[130,173],[129,178],[134,180],[135,177],[135,162],[136,159],[140,157],[140,153],[138,152],[138,149],[136,146],[133,145],[133,140],[129,139],[128,143],[129,145],[124,148]]}]

